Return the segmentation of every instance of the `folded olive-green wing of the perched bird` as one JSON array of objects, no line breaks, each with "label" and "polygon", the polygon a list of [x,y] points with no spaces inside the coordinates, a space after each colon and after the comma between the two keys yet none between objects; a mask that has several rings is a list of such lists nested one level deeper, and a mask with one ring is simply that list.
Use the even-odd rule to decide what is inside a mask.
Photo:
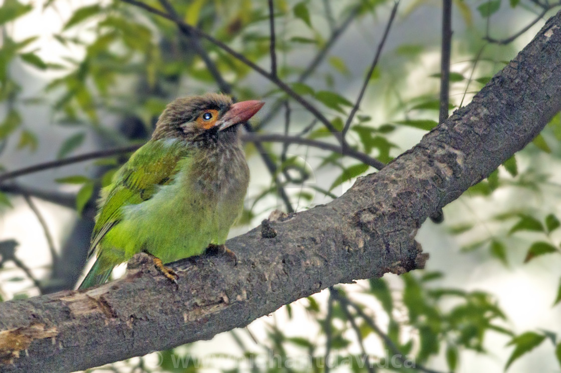
[{"label": "folded olive-green wing of the perched bird", "polygon": [[159,186],[171,182],[178,171],[177,162],[186,156],[187,147],[178,140],[149,141],[131,155],[113,177],[113,183],[102,190],[89,256],[121,221],[121,208],[148,200]]}]

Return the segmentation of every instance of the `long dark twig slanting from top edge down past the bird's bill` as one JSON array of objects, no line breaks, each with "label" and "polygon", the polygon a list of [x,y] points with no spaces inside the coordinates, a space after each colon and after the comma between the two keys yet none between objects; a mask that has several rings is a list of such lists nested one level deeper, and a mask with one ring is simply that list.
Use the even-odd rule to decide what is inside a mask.
[{"label": "long dark twig slanting from top edge down past the bird's bill", "polygon": [[[201,31],[200,29],[197,29],[197,27],[193,27],[191,25],[186,24],[185,22],[183,22],[180,19],[176,19],[176,17],[174,17],[173,15],[170,15],[168,13],[164,13],[162,11],[157,10],[156,8],[153,8],[151,6],[146,5],[145,3],[142,3],[140,1],[136,1],[136,0],[122,0],[123,2],[132,4],[134,6],[140,7],[146,11],[149,11],[155,15],[158,15],[160,17],[163,17],[167,20],[171,20],[172,22],[174,22],[178,27],[180,27],[180,29],[182,30],[182,32],[185,32],[183,30],[188,30],[191,34],[197,35],[200,38],[206,39],[209,42],[213,43],[214,45],[217,45],[217,47],[221,48],[222,50],[224,50],[226,53],[230,54],[232,57],[236,58],[238,61],[244,63],[245,65],[251,67],[252,70],[254,70],[255,72],[259,73],[259,75],[265,77],[265,79],[269,80],[270,82],[272,82],[274,85],[276,85],[278,88],[280,88],[281,90],[284,91],[284,93],[288,94],[289,96],[291,96],[293,99],[296,100],[296,102],[298,102],[300,105],[302,105],[305,109],[307,109],[311,114],[313,114],[316,118],[318,118],[318,120],[323,123],[323,125],[328,128],[328,130],[334,134],[337,134],[339,131],[337,131],[337,128],[333,127],[333,125],[331,124],[331,122],[329,122],[329,119],[327,119],[318,109],[316,109],[314,107],[314,105],[312,105],[310,102],[308,102],[304,97],[302,97],[301,95],[297,94],[292,88],[290,88],[288,86],[288,84],[286,84],[285,82],[283,82],[282,80],[280,80],[278,77],[272,76],[270,73],[266,72],[263,68],[261,68],[260,66],[256,65],[254,62],[250,61],[250,59],[247,59],[245,56],[243,56],[243,54],[236,52],[235,50],[233,50],[232,48],[228,47],[227,44],[224,44],[223,42],[220,42],[220,40],[217,40],[215,38],[213,38],[212,36],[204,33],[204,31]],[[339,141],[341,141],[341,138],[339,136],[335,136]]]}]

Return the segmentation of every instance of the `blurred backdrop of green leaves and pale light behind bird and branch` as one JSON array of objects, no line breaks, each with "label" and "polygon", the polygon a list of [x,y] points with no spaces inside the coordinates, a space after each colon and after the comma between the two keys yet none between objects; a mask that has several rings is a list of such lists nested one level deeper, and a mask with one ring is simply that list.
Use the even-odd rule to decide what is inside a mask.
[{"label": "blurred backdrop of green leaves and pale light behind bird and branch", "polygon": [[[3,170],[116,149],[17,179],[0,175],[0,301],[73,287],[99,187],[176,96],[263,99],[263,113],[246,130],[257,139],[292,139],[246,142],[252,182],[233,235],[274,209],[303,210],[341,195],[375,171],[356,154],[387,163],[438,124],[439,2],[399,4],[371,74],[393,2],[141,4],[176,22],[132,0],[5,0],[0,7]],[[466,105],[559,3],[456,0],[452,7],[450,110]],[[317,146],[342,138],[354,156]],[[106,370],[320,372],[329,370],[327,359],[337,371],[375,371],[367,359],[377,371],[411,371],[408,361],[426,372],[559,371],[560,139],[558,114],[533,144],[447,206],[443,224],[425,223],[426,270],[330,288],[248,329]],[[398,355],[399,364],[387,364]]]}]

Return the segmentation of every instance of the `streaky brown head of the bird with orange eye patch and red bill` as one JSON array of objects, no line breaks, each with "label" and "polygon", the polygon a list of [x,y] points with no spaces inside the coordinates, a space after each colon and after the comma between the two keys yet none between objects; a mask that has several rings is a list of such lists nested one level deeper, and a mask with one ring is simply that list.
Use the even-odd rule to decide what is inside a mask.
[{"label": "streaky brown head of the bird with orange eye patch and red bill", "polygon": [[216,93],[178,98],[160,115],[152,139],[236,139],[237,125],[254,116],[263,105],[257,100],[234,104],[229,96]]}]

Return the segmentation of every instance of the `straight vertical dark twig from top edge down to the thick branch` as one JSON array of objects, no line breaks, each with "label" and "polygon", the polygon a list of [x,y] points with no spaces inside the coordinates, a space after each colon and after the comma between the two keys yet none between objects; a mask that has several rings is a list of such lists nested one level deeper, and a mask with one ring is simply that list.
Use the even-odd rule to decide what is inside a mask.
[{"label": "straight vertical dark twig from top edge down to the thick branch", "polygon": [[442,46],[440,47],[440,113],[438,123],[448,119],[450,90],[450,52],[452,44],[452,0],[443,0]]}]

